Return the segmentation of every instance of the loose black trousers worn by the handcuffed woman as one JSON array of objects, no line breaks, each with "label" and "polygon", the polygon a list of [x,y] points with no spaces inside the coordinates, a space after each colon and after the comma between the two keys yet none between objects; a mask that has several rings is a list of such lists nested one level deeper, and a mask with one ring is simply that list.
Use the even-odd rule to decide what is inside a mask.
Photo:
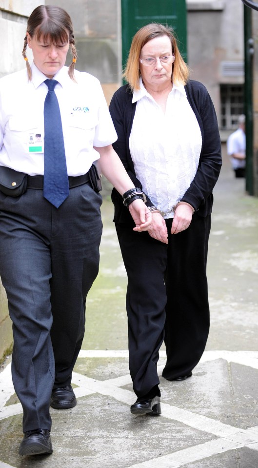
[{"label": "loose black trousers worn by the handcuffed woman", "polygon": [[198,364],[209,333],[206,277],[211,216],[195,214],[188,229],[170,234],[168,244],[116,224],[128,276],[129,369],[138,397],[159,384],[157,362],[163,340],[163,377],[188,375]]}]

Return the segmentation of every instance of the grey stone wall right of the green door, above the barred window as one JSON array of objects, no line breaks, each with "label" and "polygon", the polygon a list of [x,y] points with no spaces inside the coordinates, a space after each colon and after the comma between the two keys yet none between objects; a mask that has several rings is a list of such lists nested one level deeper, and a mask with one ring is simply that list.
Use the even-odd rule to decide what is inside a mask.
[{"label": "grey stone wall right of the green door, above the barred window", "polygon": [[[208,89],[220,116],[220,84],[242,84],[244,76],[223,72],[224,63],[244,61],[241,0],[187,0],[187,50],[191,78]],[[218,122],[220,124],[220,122]]]}]

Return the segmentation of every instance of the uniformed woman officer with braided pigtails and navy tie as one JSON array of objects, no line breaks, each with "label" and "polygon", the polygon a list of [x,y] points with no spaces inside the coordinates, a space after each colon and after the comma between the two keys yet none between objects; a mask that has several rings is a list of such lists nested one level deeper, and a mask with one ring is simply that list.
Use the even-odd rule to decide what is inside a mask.
[{"label": "uniformed woman officer with braided pigtails and navy tie", "polygon": [[28,19],[22,55],[27,70],[0,80],[0,183],[10,171],[10,186],[19,188],[20,176],[27,183],[16,197],[0,185],[0,276],[13,322],[13,383],[23,408],[19,453],[38,455],[53,451],[49,406],[76,405],[72,371],[102,232],[93,162],[99,160],[124,194],[136,231],[146,229],[151,216],[112,148],[117,134],[99,81],[75,70],[68,13],[38,6]]}]

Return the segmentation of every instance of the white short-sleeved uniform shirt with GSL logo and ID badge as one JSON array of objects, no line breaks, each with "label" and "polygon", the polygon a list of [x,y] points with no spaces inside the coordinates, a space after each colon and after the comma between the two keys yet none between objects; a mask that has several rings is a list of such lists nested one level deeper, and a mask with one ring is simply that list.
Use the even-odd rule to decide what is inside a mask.
[{"label": "white short-sleeved uniform shirt with GSL logo and ID badge", "polygon": [[[107,146],[117,140],[99,80],[78,71],[75,78],[77,82],[71,80],[65,66],[54,76],[59,81],[55,93],[69,176],[85,174],[99,159],[93,146]],[[0,165],[32,176],[44,173],[46,79],[34,63],[32,81],[28,81],[26,70],[0,79]],[[41,142],[36,142],[36,135]]]}]

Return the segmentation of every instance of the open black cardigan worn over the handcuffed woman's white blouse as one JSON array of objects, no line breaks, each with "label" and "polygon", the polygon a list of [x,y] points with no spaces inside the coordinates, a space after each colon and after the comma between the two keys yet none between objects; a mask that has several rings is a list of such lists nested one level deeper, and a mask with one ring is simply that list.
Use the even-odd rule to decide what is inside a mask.
[{"label": "open black cardigan worn over the handcuffed woman's white blouse", "polygon": [[[212,190],[218,180],[222,164],[218,122],[213,102],[203,84],[190,80],[185,85],[185,91],[198,120],[202,146],[197,173],[181,200],[190,203],[199,216],[207,216],[212,211]],[[113,143],[113,147],[135,186],[142,189],[135,174],[129,149],[129,136],[137,104],[137,102],[132,103],[132,97],[133,94],[126,84],[115,92],[110,102],[109,110],[118,134],[118,140]],[[112,190],[112,201],[115,205],[115,223],[133,224],[129,210],[123,205],[122,197],[116,189]],[[149,198],[146,204],[152,205]]]}]

